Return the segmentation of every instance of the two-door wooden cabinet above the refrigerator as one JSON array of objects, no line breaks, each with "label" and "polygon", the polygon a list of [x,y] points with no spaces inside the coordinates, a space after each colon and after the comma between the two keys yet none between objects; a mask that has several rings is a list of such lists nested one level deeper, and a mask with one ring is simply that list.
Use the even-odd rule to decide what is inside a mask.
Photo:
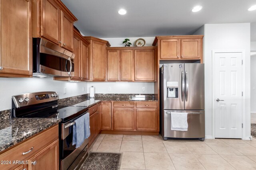
[{"label": "two-door wooden cabinet above the refrigerator", "polygon": [[201,60],[203,35],[159,36],[153,46],[158,46],[160,60]]}]

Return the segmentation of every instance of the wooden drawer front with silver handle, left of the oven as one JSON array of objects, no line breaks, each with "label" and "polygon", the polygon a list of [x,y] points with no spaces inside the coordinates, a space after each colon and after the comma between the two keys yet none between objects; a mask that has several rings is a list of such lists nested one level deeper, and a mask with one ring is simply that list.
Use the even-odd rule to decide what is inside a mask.
[{"label": "wooden drawer front with silver handle, left of the oven", "polygon": [[[4,152],[3,154],[0,154],[0,160],[11,160],[11,162],[14,160],[27,160],[31,156],[35,155],[42,147],[56,141],[58,136],[58,125],[56,125],[43,133],[32,137],[28,141]],[[0,164],[0,169],[9,169],[13,166],[15,165]]]}]

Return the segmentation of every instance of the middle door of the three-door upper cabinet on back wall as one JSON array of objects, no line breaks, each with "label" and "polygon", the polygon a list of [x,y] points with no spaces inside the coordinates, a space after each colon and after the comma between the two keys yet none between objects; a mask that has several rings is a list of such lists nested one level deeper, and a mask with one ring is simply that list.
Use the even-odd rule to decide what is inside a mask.
[{"label": "middle door of the three-door upper cabinet on back wall", "polygon": [[134,80],[133,50],[121,50],[121,81]]}]

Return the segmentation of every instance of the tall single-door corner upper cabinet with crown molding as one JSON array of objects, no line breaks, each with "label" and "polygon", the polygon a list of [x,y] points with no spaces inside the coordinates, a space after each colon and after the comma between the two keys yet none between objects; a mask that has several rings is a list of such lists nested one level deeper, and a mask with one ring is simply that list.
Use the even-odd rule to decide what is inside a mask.
[{"label": "tall single-door corner upper cabinet with crown molding", "polygon": [[108,41],[95,38],[84,37],[90,42],[89,56],[89,80],[106,81],[106,47],[110,47]]}]

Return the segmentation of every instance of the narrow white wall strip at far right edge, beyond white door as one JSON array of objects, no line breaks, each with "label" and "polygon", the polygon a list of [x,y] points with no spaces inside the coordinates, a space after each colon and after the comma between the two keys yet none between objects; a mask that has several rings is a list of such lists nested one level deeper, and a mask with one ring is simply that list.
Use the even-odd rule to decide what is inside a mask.
[{"label": "narrow white wall strip at far right edge, beyond white door", "polygon": [[251,113],[256,113],[256,54],[251,56]]}]

